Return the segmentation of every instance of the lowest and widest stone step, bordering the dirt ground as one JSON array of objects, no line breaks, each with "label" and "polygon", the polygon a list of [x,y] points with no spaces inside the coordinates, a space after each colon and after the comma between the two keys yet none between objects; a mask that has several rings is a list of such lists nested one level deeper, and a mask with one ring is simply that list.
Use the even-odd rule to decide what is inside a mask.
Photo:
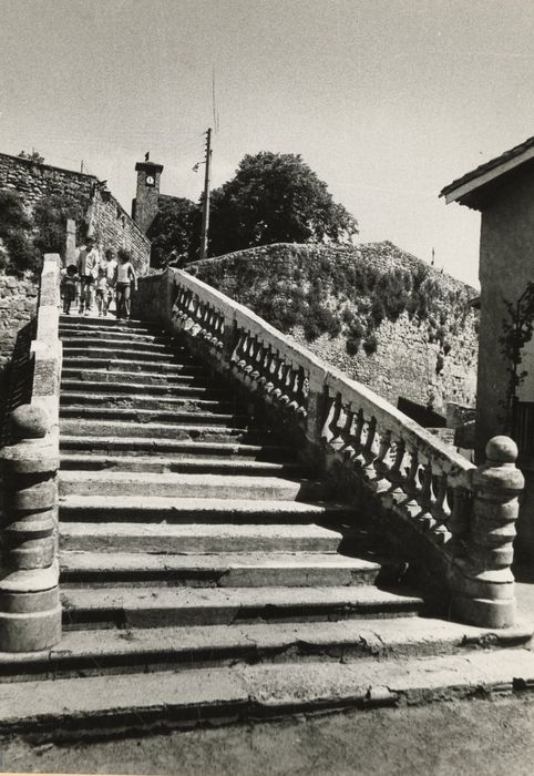
[{"label": "lowest and widest stone step, bordering the dirt ground", "polygon": [[[187,632],[187,631],[186,631]],[[101,633],[95,634],[99,637]],[[107,633],[105,634],[109,635]],[[250,649],[253,646],[250,645]],[[14,656],[13,660],[18,660]],[[289,713],[399,706],[534,688],[534,652],[470,651],[377,661],[285,662],[0,684],[0,733],[69,741],[85,734],[189,729]]]}]

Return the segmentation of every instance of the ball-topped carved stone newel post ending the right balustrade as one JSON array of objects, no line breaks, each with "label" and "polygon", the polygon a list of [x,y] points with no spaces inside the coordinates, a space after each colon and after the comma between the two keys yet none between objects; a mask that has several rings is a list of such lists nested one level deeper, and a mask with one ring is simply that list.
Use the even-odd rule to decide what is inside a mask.
[{"label": "ball-topped carved stone newel post ending the right balustrade", "polygon": [[514,550],[518,496],[525,481],[515,468],[517,447],[493,437],[486,462],[473,470],[473,509],[464,551],[452,568],[453,613],[481,627],[509,627],[515,621]]}]

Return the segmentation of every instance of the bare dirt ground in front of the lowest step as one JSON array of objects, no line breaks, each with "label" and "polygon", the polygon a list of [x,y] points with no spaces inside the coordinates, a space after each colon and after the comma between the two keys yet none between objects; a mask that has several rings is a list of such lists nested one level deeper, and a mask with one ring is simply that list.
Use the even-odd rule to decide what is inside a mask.
[{"label": "bare dirt ground in front of the lowest step", "polygon": [[2,773],[484,776],[533,773],[534,697],[454,701],[55,746],[0,743]]}]

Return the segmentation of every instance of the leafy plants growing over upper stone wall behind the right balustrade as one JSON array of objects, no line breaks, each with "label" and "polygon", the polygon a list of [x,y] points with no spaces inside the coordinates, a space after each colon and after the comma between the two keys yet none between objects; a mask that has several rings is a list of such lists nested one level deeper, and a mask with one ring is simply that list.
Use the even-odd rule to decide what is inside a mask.
[{"label": "leafy plants growing over upper stone wall behind the right balustrade", "polygon": [[[389,243],[374,249],[398,252]],[[470,314],[468,290],[448,287],[413,257],[391,267],[364,261],[355,248],[278,245],[256,251],[210,261],[201,269],[202,279],[285,333],[300,326],[308,341],[341,334],[350,356],[360,349],[372,356],[379,327],[407,314],[439,345],[440,374]]]}]

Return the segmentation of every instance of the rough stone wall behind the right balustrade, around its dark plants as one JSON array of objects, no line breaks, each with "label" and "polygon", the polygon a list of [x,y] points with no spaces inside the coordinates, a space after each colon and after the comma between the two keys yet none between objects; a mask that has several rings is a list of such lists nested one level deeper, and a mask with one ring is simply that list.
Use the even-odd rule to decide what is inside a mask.
[{"label": "rough stone wall behind the right balustrade, around its dark plants", "polygon": [[[422,264],[396,246],[382,243],[361,245],[356,249],[280,244],[250,248],[192,266],[199,279],[254,309],[251,299],[264,294],[276,294],[276,283],[275,286],[271,283],[274,274],[280,278],[284,276],[287,282],[297,265],[302,275],[306,261],[341,259],[347,263],[348,256],[353,262],[371,262],[380,272],[404,268],[407,262]],[[396,321],[382,320],[376,330],[378,347],[372,355],[367,355],[360,348],[356,356],[350,356],[343,331],[335,337],[322,334],[311,341],[306,339],[301,326],[292,327],[287,334],[393,405],[397,405],[399,397],[404,397],[443,415],[449,401],[474,406],[477,312],[469,307],[465,299],[474,296],[475,292],[460,280],[424,266],[445,300],[449,293],[462,295],[464,300],[464,323],[454,336],[448,335],[450,350],[446,354],[441,343],[431,341],[433,337],[428,320],[420,320],[418,316],[410,318],[407,313],[402,313]],[[332,300],[331,289],[325,290],[324,302],[329,307],[341,304],[339,298]],[[347,302],[342,300],[342,305],[347,306]],[[254,312],[261,315],[259,309]],[[445,308],[444,313],[450,321],[456,316],[452,308]]]}]

